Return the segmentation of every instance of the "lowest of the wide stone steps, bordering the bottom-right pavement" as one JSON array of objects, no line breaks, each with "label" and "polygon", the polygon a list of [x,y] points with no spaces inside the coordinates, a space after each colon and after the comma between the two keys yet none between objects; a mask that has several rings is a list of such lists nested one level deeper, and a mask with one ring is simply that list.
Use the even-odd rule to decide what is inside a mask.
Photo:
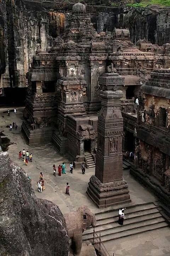
[{"label": "lowest of the wide stone steps, bordering the bottom-right pavement", "polygon": [[[99,236],[101,234],[102,241],[109,241],[111,239],[120,238],[126,236],[125,234],[130,231],[130,234],[141,233],[143,228],[151,228],[151,226],[168,226],[163,217],[157,217],[153,219],[143,220],[142,222],[129,223],[125,225],[115,226],[114,228],[108,228],[100,231],[96,231]],[[146,230],[146,229],[145,229]],[[143,232],[143,231],[142,231]],[[93,238],[93,233],[86,234],[83,236],[83,240],[91,240]]]}]

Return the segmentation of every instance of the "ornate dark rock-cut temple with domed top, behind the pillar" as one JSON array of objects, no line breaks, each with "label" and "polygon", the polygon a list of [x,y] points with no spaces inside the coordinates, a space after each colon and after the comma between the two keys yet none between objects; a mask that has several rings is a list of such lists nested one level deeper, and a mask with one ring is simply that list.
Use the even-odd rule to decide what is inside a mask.
[{"label": "ornate dark rock-cut temple with domed top, behind the pillar", "polygon": [[133,113],[134,97],[152,69],[170,65],[166,47],[145,40],[138,45],[140,49],[130,42],[128,28],[98,34],[85,5],[75,4],[66,31],[47,52],[37,50],[27,74],[22,130],[28,143],[52,142],[78,162],[95,154],[100,75],[114,70],[124,75],[121,110]]}]

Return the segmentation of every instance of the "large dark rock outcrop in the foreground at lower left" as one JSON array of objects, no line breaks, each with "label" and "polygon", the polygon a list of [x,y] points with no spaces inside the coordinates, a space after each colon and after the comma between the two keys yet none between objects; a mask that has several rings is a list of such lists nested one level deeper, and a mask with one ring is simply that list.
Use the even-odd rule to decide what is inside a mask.
[{"label": "large dark rock outcrop in the foreground at lower left", "polygon": [[0,255],[68,256],[69,238],[55,204],[36,198],[28,175],[0,152]]}]

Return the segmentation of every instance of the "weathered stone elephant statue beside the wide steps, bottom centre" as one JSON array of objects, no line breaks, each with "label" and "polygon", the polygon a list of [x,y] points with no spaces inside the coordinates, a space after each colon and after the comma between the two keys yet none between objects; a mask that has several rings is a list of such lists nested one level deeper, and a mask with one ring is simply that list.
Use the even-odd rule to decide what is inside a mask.
[{"label": "weathered stone elephant statue beside the wide steps, bottom centre", "polygon": [[81,206],[77,211],[64,214],[68,228],[68,236],[72,239],[74,255],[81,252],[83,231],[96,225],[96,217],[87,206]]}]

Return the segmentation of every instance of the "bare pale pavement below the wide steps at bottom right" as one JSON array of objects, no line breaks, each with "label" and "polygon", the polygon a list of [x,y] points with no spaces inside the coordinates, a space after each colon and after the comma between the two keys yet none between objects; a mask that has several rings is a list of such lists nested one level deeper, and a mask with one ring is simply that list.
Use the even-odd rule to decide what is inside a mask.
[{"label": "bare pale pavement below the wide steps at bottom right", "polygon": [[170,228],[108,241],[104,246],[110,256],[170,256]]}]

